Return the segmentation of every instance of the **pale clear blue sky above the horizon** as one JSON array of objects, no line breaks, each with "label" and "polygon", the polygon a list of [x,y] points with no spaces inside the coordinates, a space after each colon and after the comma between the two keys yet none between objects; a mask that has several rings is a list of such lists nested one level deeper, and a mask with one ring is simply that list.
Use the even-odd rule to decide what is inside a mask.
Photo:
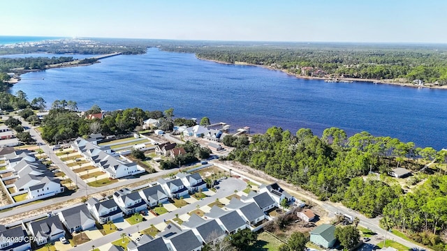
[{"label": "pale clear blue sky above the horizon", "polygon": [[443,0],[2,0],[0,6],[0,36],[447,43]]}]

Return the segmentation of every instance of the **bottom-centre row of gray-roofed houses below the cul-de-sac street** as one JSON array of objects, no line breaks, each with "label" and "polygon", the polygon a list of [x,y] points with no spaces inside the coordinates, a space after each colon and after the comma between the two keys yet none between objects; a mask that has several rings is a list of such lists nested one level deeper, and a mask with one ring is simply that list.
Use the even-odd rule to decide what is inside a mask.
[{"label": "bottom-centre row of gray-roofed houses below the cul-de-sac street", "polygon": [[264,185],[260,193],[251,192],[241,199],[233,197],[223,208],[212,206],[210,212],[203,217],[192,214],[181,226],[170,223],[154,238],[143,235],[139,241],[131,241],[127,250],[201,250],[207,243],[222,239],[228,234],[235,234],[243,229],[257,229],[257,226],[269,220],[265,212],[278,206],[282,199],[295,201],[277,183]]}]

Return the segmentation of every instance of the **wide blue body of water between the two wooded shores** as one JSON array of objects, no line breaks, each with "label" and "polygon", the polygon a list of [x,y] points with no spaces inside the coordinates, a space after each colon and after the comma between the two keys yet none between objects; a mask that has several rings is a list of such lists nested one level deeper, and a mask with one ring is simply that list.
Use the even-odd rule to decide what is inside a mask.
[{"label": "wide blue body of water between the two wooded shores", "polygon": [[[11,92],[29,99],[74,100],[80,109],[174,108],[177,117],[210,117],[232,129],[265,132],[280,126],[321,135],[338,127],[349,135],[367,131],[417,146],[447,147],[447,91],[372,83],[325,83],[274,70],[202,61],[193,54],[147,50],[92,66],[22,75]],[[29,78],[29,79],[27,79]],[[44,78],[45,80],[38,80]]]}]

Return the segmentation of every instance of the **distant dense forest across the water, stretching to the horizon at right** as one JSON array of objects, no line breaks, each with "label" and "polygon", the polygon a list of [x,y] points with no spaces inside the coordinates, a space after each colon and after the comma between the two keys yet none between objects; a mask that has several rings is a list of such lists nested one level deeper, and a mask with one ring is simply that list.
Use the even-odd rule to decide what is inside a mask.
[{"label": "distant dense forest across the water, stretching to the horizon at right", "polygon": [[360,79],[421,79],[447,84],[447,48],[441,45],[185,45],[163,50],[195,53],[200,59],[251,63],[311,76],[323,70],[330,77]]}]

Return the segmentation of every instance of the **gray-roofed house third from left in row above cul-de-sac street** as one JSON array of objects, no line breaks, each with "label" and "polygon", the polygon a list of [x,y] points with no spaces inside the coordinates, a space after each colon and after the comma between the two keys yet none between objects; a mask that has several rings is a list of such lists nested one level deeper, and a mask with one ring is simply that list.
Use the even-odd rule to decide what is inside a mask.
[{"label": "gray-roofed house third from left in row above cul-de-sac street", "polygon": [[91,217],[89,209],[85,204],[65,209],[58,213],[62,224],[73,233],[74,231],[84,231],[94,227],[95,220]]}]

